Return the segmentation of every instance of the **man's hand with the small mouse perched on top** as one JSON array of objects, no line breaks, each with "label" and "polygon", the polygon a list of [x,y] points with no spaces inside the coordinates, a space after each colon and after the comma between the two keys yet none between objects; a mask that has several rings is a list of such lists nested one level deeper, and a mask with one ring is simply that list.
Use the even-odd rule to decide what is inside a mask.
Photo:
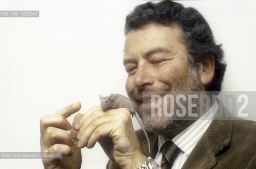
[{"label": "man's hand with the small mouse perched on top", "polygon": [[122,168],[138,168],[146,160],[135,135],[130,111],[126,108],[104,111],[92,107],[75,125],[78,147],[92,148],[98,142],[107,156]]}]

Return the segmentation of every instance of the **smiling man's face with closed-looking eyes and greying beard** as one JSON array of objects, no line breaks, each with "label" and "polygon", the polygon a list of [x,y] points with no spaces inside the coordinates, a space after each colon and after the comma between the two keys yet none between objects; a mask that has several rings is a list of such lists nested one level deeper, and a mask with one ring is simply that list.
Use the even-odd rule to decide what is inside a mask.
[{"label": "smiling man's face with closed-looking eyes and greying beard", "polygon": [[128,73],[126,91],[134,102],[144,126],[152,132],[168,128],[172,118],[152,117],[151,98],[143,91],[203,90],[198,71],[189,62],[189,53],[176,25],[150,24],[126,36],[124,65]]}]

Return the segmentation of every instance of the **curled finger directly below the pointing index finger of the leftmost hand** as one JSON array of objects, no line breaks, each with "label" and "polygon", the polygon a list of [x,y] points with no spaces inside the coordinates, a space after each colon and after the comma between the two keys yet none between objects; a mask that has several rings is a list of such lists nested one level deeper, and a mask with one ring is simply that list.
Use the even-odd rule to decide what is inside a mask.
[{"label": "curled finger directly below the pointing index finger of the leftmost hand", "polygon": [[71,124],[62,115],[46,115],[42,116],[40,119],[40,133],[44,135],[45,130],[48,127],[57,127],[64,130],[70,130]]}]

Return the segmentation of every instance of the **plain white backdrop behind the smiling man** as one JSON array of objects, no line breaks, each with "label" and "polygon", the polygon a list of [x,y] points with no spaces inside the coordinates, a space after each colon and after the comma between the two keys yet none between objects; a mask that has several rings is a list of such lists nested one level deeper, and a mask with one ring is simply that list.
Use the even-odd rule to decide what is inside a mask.
[{"label": "plain white backdrop behind the smiling man", "polygon": [[[124,21],[144,2],[0,1],[0,10],[40,11],[0,18],[0,152],[40,152],[41,116],[77,101],[84,113],[100,93],[126,95]],[[223,90],[255,91],[256,2],[180,3],[197,8],[223,44]],[[108,160],[98,144],[83,148],[82,158],[82,168],[105,168]],[[0,159],[0,168],[42,167],[40,159]]]}]

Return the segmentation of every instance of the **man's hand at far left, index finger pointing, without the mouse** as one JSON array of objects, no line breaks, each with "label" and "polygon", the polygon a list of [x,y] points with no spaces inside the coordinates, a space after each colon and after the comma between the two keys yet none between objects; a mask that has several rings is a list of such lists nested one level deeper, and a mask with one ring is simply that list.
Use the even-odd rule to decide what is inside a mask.
[{"label": "man's hand at far left, index finger pointing, without the mouse", "polygon": [[[41,152],[62,152],[63,159],[42,159],[45,168],[80,168],[81,150],[78,148],[76,130],[66,120],[67,117],[80,110],[80,102],[58,110],[55,115],[42,116],[40,119],[40,146]],[[77,114],[73,124],[76,124],[82,114]],[[71,129],[72,127],[72,129]],[[70,134],[66,130],[70,130]]]}]

